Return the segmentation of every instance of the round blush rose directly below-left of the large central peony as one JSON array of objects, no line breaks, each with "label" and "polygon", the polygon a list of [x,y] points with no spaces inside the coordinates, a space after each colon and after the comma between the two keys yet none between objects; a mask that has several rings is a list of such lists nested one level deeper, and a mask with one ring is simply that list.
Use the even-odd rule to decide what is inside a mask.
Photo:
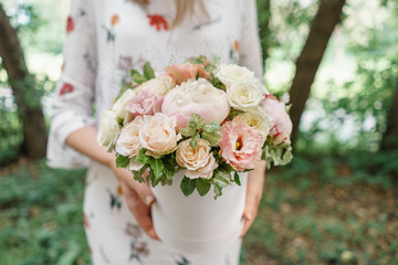
[{"label": "round blush rose directly below-left of the large central peony", "polygon": [[181,136],[176,132],[177,119],[165,114],[145,116],[139,130],[139,142],[147,155],[159,158],[176,150]]}]

